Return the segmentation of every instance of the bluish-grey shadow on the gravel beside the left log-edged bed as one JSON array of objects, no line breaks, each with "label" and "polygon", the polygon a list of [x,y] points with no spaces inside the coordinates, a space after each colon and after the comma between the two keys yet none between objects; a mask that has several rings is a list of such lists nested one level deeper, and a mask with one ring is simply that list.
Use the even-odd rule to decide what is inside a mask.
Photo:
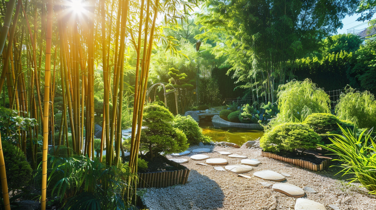
[{"label": "bluish-grey shadow on the gravel beside the left log-edged bed", "polygon": [[150,210],[214,210],[223,207],[224,194],[215,181],[191,170],[186,184],[148,188],[143,199]]}]

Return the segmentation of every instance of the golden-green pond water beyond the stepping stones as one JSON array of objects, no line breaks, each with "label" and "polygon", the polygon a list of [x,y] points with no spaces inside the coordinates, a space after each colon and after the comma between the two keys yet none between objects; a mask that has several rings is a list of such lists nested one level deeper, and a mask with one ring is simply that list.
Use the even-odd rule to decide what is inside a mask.
[{"label": "golden-green pond water beyond the stepping stones", "polygon": [[212,141],[227,141],[239,146],[264,135],[263,130],[250,130],[241,127],[214,127],[209,122],[200,122],[199,126],[202,128],[203,134],[211,137]]}]

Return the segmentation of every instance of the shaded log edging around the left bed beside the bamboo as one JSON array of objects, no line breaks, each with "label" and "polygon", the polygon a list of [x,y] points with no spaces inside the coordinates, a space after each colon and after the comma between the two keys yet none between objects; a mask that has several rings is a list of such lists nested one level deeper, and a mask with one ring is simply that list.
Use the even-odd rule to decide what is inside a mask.
[{"label": "shaded log edging around the left bed beside the bamboo", "polygon": [[177,171],[161,171],[152,173],[137,173],[138,188],[168,187],[176,184],[186,184],[190,169],[177,162],[160,156],[168,165],[176,167]]}]

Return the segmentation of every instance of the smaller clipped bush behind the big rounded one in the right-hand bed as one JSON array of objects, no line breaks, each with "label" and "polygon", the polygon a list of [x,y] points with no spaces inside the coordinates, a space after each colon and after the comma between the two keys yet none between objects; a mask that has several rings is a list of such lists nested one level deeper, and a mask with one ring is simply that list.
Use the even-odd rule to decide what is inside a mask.
[{"label": "smaller clipped bush behind the big rounded one in the right-hand bed", "polygon": [[313,113],[304,120],[316,133],[324,134],[338,130],[340,120],[337,116],[327,113]]}]

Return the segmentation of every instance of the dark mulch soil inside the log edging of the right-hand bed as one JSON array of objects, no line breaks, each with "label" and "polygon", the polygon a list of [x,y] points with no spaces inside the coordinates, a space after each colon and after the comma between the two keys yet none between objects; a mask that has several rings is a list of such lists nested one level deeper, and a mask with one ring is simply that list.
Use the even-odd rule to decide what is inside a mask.
[{"label": "dark mulch soil inside the log edging of the right-hand bed", "polygon": [[[324,160],[327,160],[328,158],[329,159],[332,159],[333,156],[329,156],[328,154],[326,153],[317,153],[317,152],[313,152],[312,153],[316,153],[318,155],[315,155],[315,154],[309,154],[311,151],[305,151],[304,154],[301,154],[297,151],[294,151],[294,152],[277,152],[277,153],[274,153],[274,154],[277,154],[279,156],[282,156],[282,157],[288,157],[288,158],[292,158],[292,159],[299,159],[299,160],[306,160],[306,161],[309,161],[311,163],[315,163],[317,165],[321,164],[321,162],[323,162]],[[324,157],[328,157],[328,158],[324,158]]]}]

